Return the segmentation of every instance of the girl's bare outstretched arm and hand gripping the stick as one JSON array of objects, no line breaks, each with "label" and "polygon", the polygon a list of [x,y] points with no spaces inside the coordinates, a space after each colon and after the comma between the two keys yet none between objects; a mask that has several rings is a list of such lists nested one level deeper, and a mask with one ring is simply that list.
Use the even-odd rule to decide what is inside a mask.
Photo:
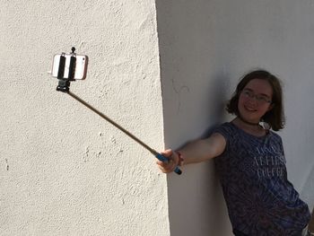
[{"label": "girl's bare outstretched arm and hand gripping the stick", "polygon": [[[178,150],[183,158],[181,165],[189,163],[205,162],[223,153],[226,146],[225,138],[218,133],[214,133],[206,139],[198,139],[185,145],[183,148]],[[165,157],[170,159],[170,162],[157,161],[159,168],[164,173],[169,173],[179,163],[179,155],[176,152],[168,149],[161,152]]]}]

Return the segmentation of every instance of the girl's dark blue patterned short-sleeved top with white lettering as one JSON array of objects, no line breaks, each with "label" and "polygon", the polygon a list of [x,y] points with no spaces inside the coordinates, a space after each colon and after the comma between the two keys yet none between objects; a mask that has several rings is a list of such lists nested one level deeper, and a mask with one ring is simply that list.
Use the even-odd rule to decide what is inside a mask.
[{"label": "girl's dark blue patterned short-sleeved top with white lettering", "polygon": [[272,131],[257,137],[232,123],[214,133],[227,142],[214,162],[233,229],[250,236],[300,236],[310,210],[287,179],[281,137]]}]

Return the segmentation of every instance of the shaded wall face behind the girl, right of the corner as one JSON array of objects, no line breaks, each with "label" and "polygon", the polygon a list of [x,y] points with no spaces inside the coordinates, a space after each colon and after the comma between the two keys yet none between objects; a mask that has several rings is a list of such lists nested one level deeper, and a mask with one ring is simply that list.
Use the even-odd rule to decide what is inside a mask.
[{"label": "shaded wall face behind the girl, right of the corner", "polygon": [[[223,102],[257,67],[284,83],[289,179],[314,204],[314,2],[156,1],[165,143],[177,148],[229,120]],[[214,163],[169,175],[171,235],[231,235]]]}]

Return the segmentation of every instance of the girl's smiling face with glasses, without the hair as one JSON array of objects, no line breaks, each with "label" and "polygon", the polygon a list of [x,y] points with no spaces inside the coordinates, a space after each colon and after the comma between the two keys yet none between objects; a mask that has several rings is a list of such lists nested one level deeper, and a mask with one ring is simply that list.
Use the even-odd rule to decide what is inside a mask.
[{"label": "girl's smiling face with glasses, without the hair", "polygon": [[273,108],[273,89],[266,81],[253,79],[240,92],[238,110],[240,117],[258,123],[265,113]]}]

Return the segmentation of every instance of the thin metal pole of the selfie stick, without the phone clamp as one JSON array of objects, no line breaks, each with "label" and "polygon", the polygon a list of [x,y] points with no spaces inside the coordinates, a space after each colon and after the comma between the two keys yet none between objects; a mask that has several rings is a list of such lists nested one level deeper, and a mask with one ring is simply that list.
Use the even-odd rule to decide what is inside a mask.
[{"label": "thin metal pole of the selfie stick, without the phone clamp", "polygon": [[[128,132],[124,127],[119,126],[115,121],[113,121],[112,119],[110,119],[109,117],[105,116],[104,114],[102,114],[99,110],[94,109],[90,104],[88,104],[87,102],[83,101],[82,99],[80,99],[79,97],[77,97],[73,92],[70,92],[69,90],[67,91],[63,91],[66,92],[67,94],[69,94],[71,97],[73,97],[76,101],[81,102],[85,107],[92,109],[92,111],[94,111],[95,113],[97,113],[98,115],[100,115],[101,118],[106,119],[109,123],[111,123],[111,125],[118,127],[119,130],[121,130],[122,132],[124,132],[126,135],[128,135],[129,137],[131,137],[133,140],[135,140],[135,142],[137,142],[138,144],[141,144],[142,146],[144,146],[145,149],[147,149],[149,152],[151,152],[159,161],[161,162],[169,162],[169,159],[166,158],[165,156],[163,156],[161,153],[156,152],[155,150],[153,150],[153,148],[151,148],[149,145],[144,144],[143,141],[141,141],[140,139],[138,139],[135,135],[131,134],[130,132]],[[181,174],[182,171],[179,170],[179,167],[177,166],[176,169],[174,170],[174,172],[176,172],[177,174]]]}]

